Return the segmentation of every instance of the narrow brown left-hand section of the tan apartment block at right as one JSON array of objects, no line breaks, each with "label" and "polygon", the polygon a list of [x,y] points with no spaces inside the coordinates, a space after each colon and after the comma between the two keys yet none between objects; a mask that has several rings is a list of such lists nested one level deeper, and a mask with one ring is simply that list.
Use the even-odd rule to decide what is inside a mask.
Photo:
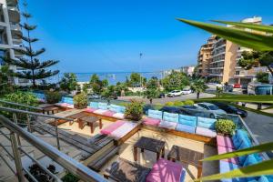
[{"label": "narrow brown left-hand section of the tan apartment block at right", "polygon": [[211,62],[213,45],[217,41],[217,36],[212,35],[208,38],[207,44],[202,45],[197,56],[197,74],[208,76],[208,68]]}]

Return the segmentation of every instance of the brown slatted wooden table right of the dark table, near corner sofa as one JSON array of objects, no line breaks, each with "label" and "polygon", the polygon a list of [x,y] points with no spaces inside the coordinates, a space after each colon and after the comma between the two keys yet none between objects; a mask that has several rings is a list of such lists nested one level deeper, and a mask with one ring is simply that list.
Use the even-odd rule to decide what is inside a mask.
[{"label": "brown slatted wooden table right of the dark table, near corner sofa", "polygon": [[202,162],[200,160],[203,158],[204,158],[203,153],[178,146],[173,146],[169,153],[167,154],[168,160],[172,160],[174,162],[178,160],[180,162],[184,162],[189,165],[197,167],[198,170],[197,177],[202,176]]}]

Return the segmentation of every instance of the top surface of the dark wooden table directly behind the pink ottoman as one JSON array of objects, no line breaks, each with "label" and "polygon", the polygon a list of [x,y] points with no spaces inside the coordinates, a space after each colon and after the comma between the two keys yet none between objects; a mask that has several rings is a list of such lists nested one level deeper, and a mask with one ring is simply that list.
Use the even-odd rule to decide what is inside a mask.
[{"label": "top surface of the dark wooden table directly behind the pink ottoman", "polygon": [[135,147],[159,153],[162,148],[165,147],[165,142],[146,136],[141,136],[140,139],[137,140]]}]

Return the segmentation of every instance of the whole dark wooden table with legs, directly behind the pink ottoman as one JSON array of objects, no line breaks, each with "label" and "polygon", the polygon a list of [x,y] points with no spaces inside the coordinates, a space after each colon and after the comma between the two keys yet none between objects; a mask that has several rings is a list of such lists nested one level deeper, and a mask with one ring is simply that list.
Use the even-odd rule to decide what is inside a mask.
[{"label": "whole dark wooden table with legs, directly behind the pink ottoman", "polygon": [[135,161],[137,160],[137,147],[141,149],[141,152],[144,152],[144,150],[148,150],[157,153],[157,160],[159,159],[160,153],[161,157],[165,156],[165,142],[161,140],[141,136],[134,145]]}]

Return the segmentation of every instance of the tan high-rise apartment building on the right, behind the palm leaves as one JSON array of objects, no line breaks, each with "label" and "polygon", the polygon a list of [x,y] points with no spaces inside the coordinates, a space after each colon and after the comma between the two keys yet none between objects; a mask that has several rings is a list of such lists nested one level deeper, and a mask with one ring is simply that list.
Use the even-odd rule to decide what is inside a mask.
[{"label": "tan high-rise apartment building on the right, behind the palm leaves", "polygon": [[[261,24],[261,21],[261,17],[254,16],[241,22]],[[212,37],[209,37],[208,40],[212,41]],[[215,37],[212,45],[208,46],[206,44],[200,48],[197,61],[199,75],[215,78],[221,83],[248,84],[255,78],[258,71],[264,70],[264,67],[244,70],[238,66],[238,60],[241,58],[243,51],[251,51],[251,49]]]}]

